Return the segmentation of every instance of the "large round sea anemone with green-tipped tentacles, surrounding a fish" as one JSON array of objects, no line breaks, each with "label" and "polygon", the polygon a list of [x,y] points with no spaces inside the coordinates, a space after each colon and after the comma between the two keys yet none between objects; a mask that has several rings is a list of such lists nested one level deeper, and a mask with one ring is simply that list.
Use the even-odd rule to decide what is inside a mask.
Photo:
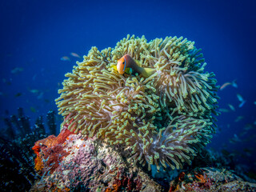
[{"label": "large round sea anemone with green-tipped tentacles, surrounding a fish", "polygon": [[[114,66],[125,54],[155,73],[118,74]],[[130,159],[149,170],[182,168],[210,142],[218,87],[194,42],[128,35],[114,49],[92,47],[77,64],[56,99],[70,131],[130,146]]]}]

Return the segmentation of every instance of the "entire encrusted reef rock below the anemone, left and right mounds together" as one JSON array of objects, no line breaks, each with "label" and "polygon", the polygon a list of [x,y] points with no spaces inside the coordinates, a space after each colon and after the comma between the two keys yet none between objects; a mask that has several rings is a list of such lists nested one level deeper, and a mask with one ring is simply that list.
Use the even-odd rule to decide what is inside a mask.
[{"label": "entire encrusted reef rock below the anemone, left and right mounds together", "polygon": [[[39,150],[34,150],[42,161],[42,174],[30,191],[255,191],[256,185],[245,182],[234,171],[219,166],[189,166],[165,173],[167,178],[151,178],[139,166],[133,166],[122,157],[122,148],[114,148],[98,138],[87,138],[82,134],[72,134],[62,128],[58,137],[49,136],[36,142]],[[46,146],[48,145],[48,146]],[[55,150],[56,148],[62,150]],[[206,152],[210,153],[210,152]],[[215,154],[200,158],[217,165],[223,159]],[[61,158],[58,158],[61,157]],[[55,159],[53,161],[53,159]],[[38,163],[40,164],[40,163]],[[207,164],[207,163],[206,163]],[[171,175],[172,174],[172,175]],[[163,182],[165,180],[165,182]]]}]

